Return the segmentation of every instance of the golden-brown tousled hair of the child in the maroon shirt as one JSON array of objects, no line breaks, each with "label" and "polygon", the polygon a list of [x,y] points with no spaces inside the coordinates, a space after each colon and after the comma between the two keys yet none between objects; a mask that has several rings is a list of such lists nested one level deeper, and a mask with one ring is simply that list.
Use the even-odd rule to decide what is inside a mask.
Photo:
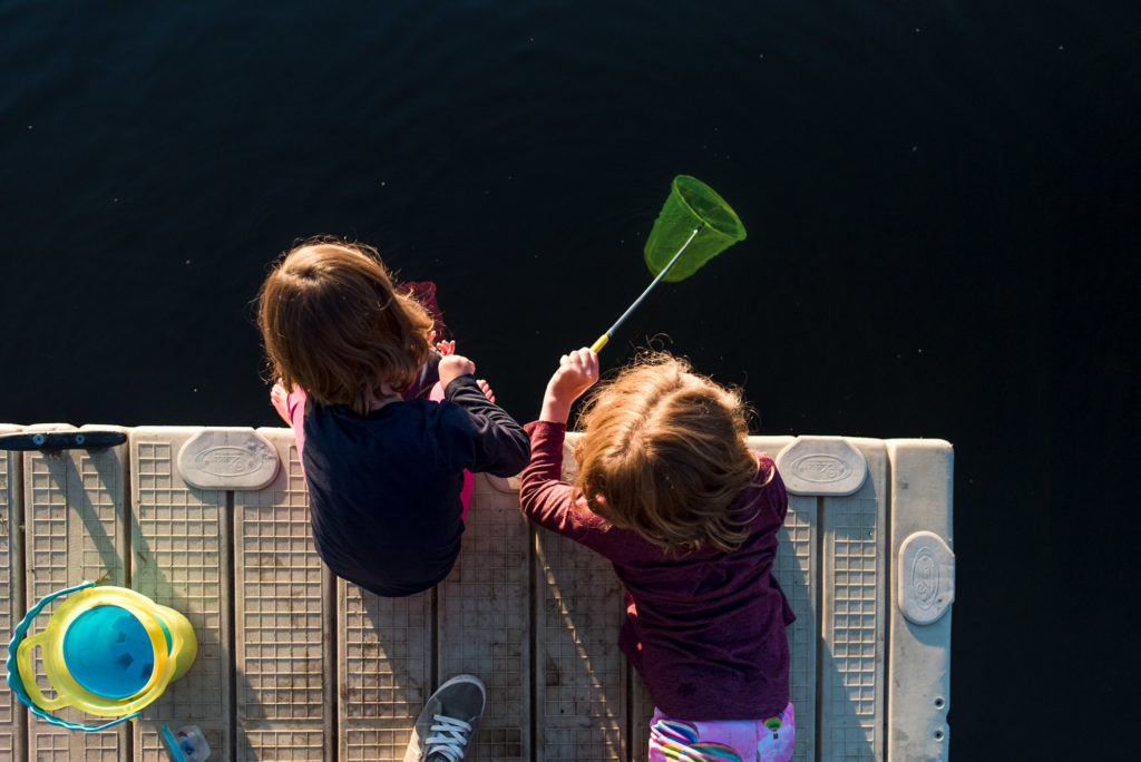
[{"label": "golden-brown tousled hair of the child in the maroon shirt", "polygon": [[754,518],[728,512],[758,472],[745,443],[750,414],[739,390],[685,359],[644,355],[586,400],[576,494],[610,525],[667,552],[734,551]]}]

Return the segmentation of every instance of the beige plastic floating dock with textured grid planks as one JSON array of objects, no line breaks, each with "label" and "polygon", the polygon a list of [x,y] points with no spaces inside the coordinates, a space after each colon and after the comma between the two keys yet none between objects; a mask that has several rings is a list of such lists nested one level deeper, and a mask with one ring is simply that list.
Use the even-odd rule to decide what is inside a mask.
[{"label": "beige plastic floating dock with textured grid planks", "polygon": [[[116,430],[128,441],[102,449],[0,449],[0,637],[43,595],[104,577],[184,613],[197,658],[138,721],[100,732],[49,724],[6,686],[0,760],[165,760],[161,724],[202,728],[212,760],[399,760],[424,699],[459,672],[488,688],[468,759],[645,759],[653,705],[617,648],[622,587],[599,557],[528,525],[513,480],[477,476],[444,583],[383,599],[317,558],[290,430]],[[950,445],[751,445],[790,489],[777,576],[798,616],[795,759],[947,759]],[[42,671],[39,683],[52,695]]]}]

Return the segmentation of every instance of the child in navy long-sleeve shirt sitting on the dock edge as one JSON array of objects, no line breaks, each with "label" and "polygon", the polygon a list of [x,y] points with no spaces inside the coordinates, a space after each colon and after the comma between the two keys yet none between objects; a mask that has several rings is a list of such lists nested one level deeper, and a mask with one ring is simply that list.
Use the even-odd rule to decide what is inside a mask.
[{"label": "child in navy long-sleeve shirt sitting on the dock edge", "polygon": [[443,324],[370,246],[314,238],[286,252],[258,294],[258,326],[322,560],[379,595],[440,582],[460,552],[466,471],[517,473],[523,428],[455,342],[432,347]]}]

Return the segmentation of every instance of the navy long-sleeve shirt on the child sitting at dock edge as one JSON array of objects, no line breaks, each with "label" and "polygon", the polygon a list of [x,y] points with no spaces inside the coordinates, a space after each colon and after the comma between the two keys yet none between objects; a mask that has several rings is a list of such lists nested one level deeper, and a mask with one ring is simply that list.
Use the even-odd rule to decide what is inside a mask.
[{"label": "navy long-sleeve shirt on the child sitting at dock edge", "polygon": [[463,535],[464,469],[513,476],[531,456],[523,427],[475,376],[455,379],[444,395],[440,403],[389,403],[364,418],[310,403],[304,415],[317,553],[337,576],[379,595],[411,595],[451,572]]}]

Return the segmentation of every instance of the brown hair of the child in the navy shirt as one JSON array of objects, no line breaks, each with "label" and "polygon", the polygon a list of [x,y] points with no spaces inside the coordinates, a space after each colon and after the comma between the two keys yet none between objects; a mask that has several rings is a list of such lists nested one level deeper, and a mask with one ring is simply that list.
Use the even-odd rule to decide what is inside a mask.
[{"label": "brown hair of the child in the navy shirt", "polygon": [[316,237],[282,254],[258,292],[272,378],[365,415],[383,384],[403,391],[431,351],[432,318],[397,293],[377,250]]}]

